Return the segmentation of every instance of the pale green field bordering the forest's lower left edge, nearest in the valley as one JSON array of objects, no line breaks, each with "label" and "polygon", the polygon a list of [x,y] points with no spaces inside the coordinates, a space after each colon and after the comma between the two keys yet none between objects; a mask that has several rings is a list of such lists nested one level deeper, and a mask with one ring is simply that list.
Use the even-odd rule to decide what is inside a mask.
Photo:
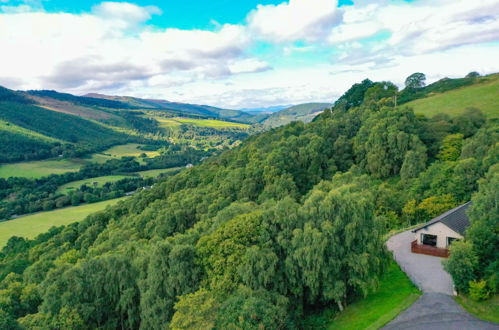
[{"label": "pale green field bordering the forest's lower left edge, nearest in the valley", "polygon": [[2,248],[12,236],[35,238],[38,234],[46,232],[53,226],[62,226],[81,221],[87,215],[101,211],[107,206],[114,205],[125,198],[126,197],[100,203],[68,207],[49,212],[40,212],[14,220],[0,222],[0,248]]}]

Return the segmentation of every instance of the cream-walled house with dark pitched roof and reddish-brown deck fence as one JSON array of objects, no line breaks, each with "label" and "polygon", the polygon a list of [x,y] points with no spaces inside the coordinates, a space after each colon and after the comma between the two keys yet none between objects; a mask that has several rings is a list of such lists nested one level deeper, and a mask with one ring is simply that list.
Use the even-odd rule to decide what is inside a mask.
[{"label": "cream-walled house with dark pitched roof and reddish-brown deck fence", "polygon": [[411,244],[413,253],[448,257],[449,246],[455,240],[462,239],[470,225],[466,211],[471,202],[453,208],[439,215],[421,227],[414,229],[415,240]]}]

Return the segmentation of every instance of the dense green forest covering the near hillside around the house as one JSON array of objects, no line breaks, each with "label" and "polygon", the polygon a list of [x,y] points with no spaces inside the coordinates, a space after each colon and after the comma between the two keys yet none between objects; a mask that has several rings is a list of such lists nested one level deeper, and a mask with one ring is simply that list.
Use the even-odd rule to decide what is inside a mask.
[{"label": "dense green forest covering the near hillside around the house", "polygon": [[389,230],[470,199],[469,238],[446,267],[462,292],[497,292],[498,120],[418,116],[395,96],[365,80],[309,124],[250,136],[80,223],[11,238],[0,328],[300,328],[307,311],[376,290]]}]

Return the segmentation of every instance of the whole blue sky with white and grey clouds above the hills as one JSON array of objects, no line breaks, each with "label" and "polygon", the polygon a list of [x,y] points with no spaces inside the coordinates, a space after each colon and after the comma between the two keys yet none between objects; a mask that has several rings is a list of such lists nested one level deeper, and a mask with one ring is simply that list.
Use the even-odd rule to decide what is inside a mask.
[{"label": "whole blue sky with white and grey clouds above the hills", "polygon": [[0,0],[0,85],[250,108],[499,72],[499,0]]}]

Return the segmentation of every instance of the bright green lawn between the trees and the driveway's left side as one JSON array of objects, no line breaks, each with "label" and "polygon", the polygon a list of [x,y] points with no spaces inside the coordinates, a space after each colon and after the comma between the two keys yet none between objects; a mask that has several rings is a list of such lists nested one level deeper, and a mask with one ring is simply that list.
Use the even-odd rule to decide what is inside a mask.
[{"label": "bright green lawn between the trees and the driveway's left side", "polygon": [[342,313],[327,309],[310,315],[306,329],[379,329],[411,306],[421,295],[399,266],[392,261],[378,290],[348,305]]}]

